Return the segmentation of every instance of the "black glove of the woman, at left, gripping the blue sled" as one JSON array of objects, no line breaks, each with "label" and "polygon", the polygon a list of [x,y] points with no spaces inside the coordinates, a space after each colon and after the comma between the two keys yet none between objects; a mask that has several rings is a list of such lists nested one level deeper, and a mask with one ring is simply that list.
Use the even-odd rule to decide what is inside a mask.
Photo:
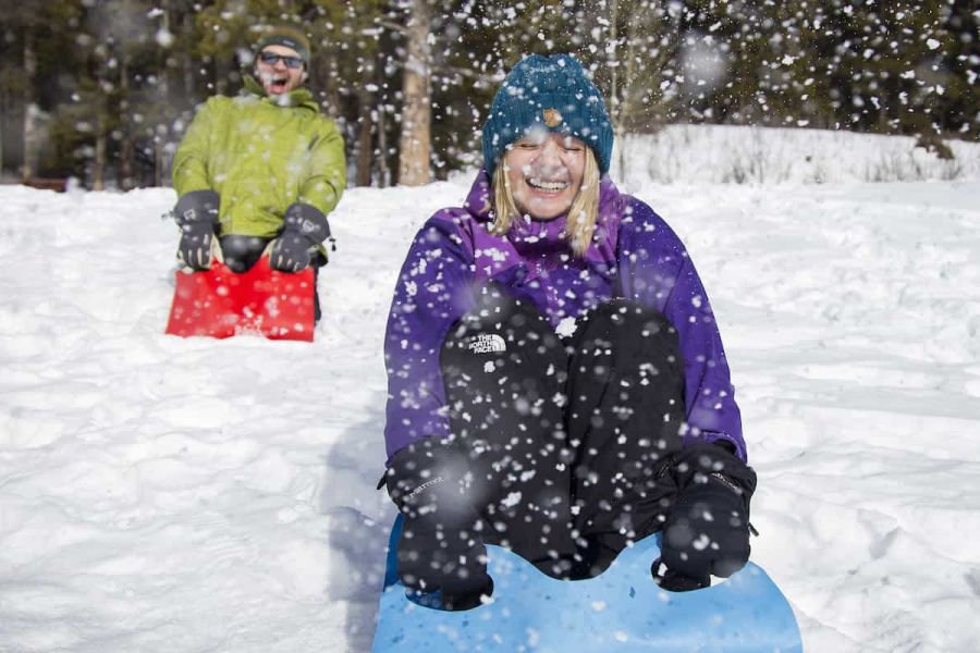
[{"label": "black glove of the woman, at left, gripping the blue sled", "polygon": [[476,607],[493,591],[479,519],[461,482],[465,470],[452,445],[426,439],[400,449],[385,475],[404,519],[399,577],[416,591],[441,591],[444,609]]}]

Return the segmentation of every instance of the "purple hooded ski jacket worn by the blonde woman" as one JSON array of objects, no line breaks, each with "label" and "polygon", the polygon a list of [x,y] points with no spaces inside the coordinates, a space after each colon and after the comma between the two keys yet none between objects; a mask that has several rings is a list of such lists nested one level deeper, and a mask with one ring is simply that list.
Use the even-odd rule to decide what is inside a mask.
[{"label": "purple hooded ski jacket worn by the blonde woman", "polygon": [[501,236],[491,233],[489,213],[490,180],[481,171],[463,208],[426,222],[402,266],[384,341],[389,459],[413,442],[450,434],[439,353],[452,324],[475,306],[474,288],[491,280],[530,300],[559,331],[611,298],[656,308],[679,336],[685,444],[727,440],[746,459],[714,315],[684,245],[660,215],[604,176],[592,243],[576,257],[564,215],[516,220]]}]

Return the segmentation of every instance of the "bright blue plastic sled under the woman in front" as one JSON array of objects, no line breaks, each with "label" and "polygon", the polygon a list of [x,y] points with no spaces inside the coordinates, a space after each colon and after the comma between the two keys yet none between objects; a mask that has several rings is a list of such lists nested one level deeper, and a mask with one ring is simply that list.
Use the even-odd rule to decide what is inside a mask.
[{"label": "bright blue plastic sled under the woman in front", "polygon": [[561,581],[520,556],[487,546],[493,596],[465,612],[409,600],[396,574],[395,520],[372,653],[657,651],[801,652],[786,597],[749,563],[727,581],[694,592],[661,590],[650,576],[660,554],[650,537],[597,578]]}]

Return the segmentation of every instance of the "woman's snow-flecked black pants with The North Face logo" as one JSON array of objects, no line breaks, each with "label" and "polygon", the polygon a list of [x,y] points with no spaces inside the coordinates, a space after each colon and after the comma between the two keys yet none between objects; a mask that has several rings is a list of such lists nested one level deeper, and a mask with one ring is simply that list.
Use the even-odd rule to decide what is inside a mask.
[{"label": "woman's snow-flecked black pants with The North Face logo", "polygon": [[660,529],[685,416],[677,334],[662,315],[613,299],[563,340],[491,284],[440,356],[483,542],[584,578]]}]

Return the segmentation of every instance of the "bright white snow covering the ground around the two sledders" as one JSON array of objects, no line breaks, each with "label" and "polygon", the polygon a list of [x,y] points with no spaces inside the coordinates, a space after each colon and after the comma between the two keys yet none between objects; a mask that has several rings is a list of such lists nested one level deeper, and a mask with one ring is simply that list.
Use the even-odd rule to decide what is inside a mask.
[{"label": "bright white snow covering the ground around the two sledders", "polygon": [[[829,165],[879,158],[838,145]],[[980,180],[698,174],[634,167],[627,189],[718,312],[754,560],[808,651],[975,651]],[[345,195],[313,344],[163,335],[172,192],[0,187],[0,651],[367,651],[394,516],[375,490],[390,293],[468,183]]]}]

